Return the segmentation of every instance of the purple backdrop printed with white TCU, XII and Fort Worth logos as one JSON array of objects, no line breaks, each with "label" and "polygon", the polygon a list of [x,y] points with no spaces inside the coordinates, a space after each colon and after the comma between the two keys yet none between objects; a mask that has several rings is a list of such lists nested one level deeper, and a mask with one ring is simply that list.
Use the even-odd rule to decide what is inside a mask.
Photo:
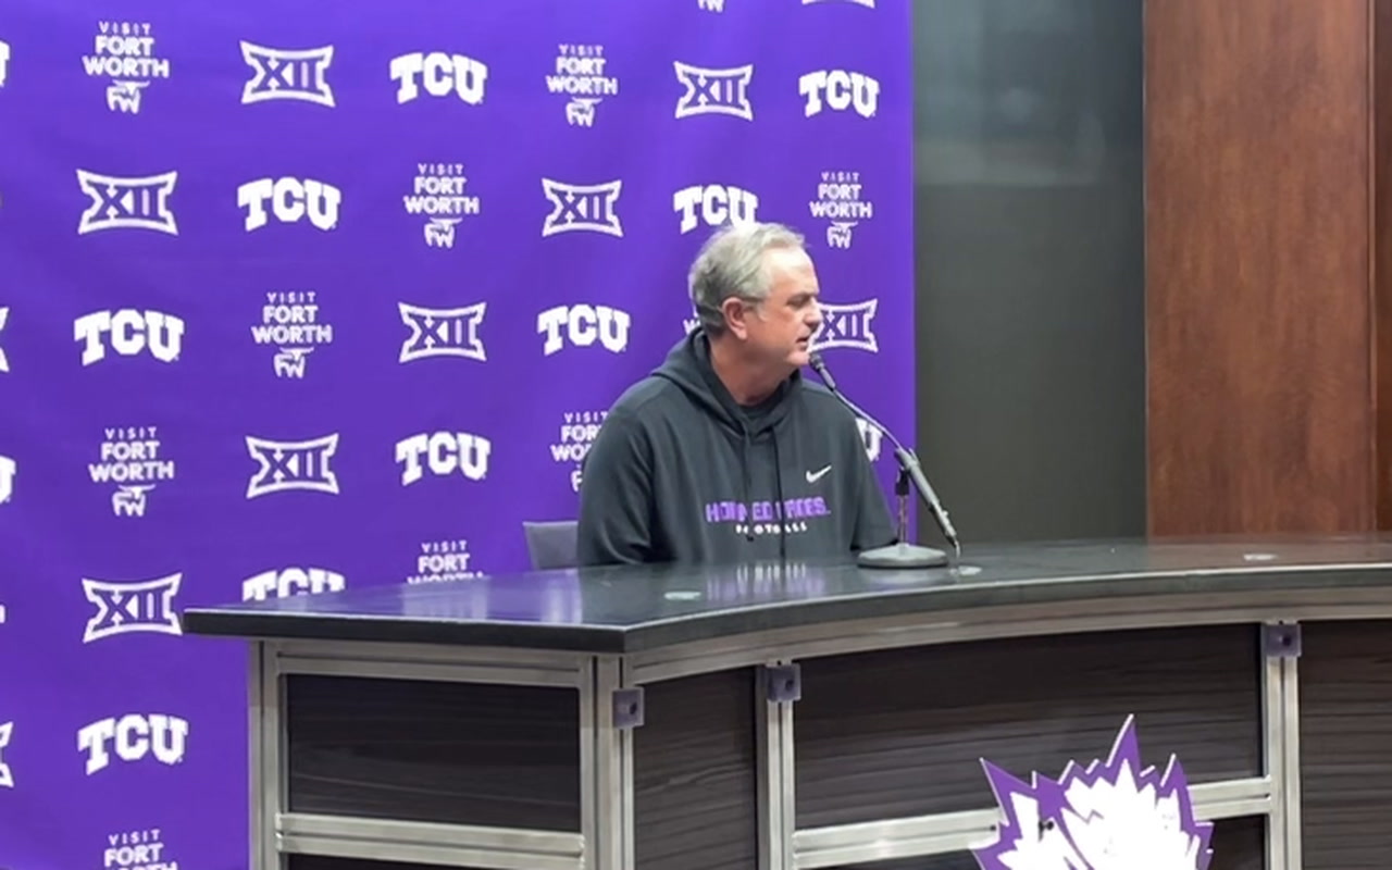
[{"label": "purple backdrop printed with white TCU, XII and Fort Worth logos", "polygon": [[912,432],[910,113],[906,0],[7,3],[0,867],[245,867],[174,614],[525,568],[713,224]]}]

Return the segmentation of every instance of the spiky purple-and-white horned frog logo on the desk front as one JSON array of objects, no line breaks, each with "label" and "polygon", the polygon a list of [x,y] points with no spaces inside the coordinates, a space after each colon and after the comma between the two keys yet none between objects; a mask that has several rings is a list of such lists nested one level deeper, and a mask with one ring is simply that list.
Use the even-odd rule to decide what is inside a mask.
[{"label": "spiky purple-and-white horned frog logo on the desk front", "polygon": [[1001,809],[995,842],[973,851],[981,870],[1208,870],[1212,824],[1194,818],[1175,756],[1141,767],[1134,717],[1107,761],[1069,763],[1058,780],[981,766]]}]

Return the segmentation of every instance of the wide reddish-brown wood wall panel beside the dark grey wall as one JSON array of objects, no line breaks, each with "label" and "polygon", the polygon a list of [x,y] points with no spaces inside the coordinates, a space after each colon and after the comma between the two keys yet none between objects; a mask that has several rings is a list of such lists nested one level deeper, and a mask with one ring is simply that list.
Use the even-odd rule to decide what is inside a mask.
[{"label": "wide reddish-brown wood wall panel beside the dark grey wall", "polygon": [[1392,106],[1374,113],[1373,63],[1386,6],[1146,1],[1153,535],[1386,516],[1392,420],[1375,400],[1392,361],[1375,349],[1392,330],[1374,315],[1392,312],[1374,291],[1392,253],[1374,244],[1388,200],[1374,168],[1389,155],[1374,118]]}]

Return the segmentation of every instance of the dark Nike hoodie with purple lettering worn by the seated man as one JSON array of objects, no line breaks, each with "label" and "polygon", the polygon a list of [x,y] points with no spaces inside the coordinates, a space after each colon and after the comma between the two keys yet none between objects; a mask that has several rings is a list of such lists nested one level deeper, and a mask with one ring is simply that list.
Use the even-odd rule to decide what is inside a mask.
[{"label": "dark Nike hoodie with purple lettering worn by the seated man", "polygon": [[851,411],[800,372],[739,406],[700,329],[619,397],[585,458],[580,565],[806,560],[895,540]]}]

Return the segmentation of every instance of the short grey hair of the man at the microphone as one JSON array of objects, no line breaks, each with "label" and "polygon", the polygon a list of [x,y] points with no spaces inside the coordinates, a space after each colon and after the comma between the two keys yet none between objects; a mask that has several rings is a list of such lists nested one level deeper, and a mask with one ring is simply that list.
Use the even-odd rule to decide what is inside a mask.
[{"label": "short grey hair of the man at the microphone", "polygon": [[725,331],[721,303],[736,296],[748,302],[768,298],[770,276],[764,252],[771,248],[803,248],[802,235],[782,224],[738,223],[711,235],[686,277],[692,306],[710,335]]}]

